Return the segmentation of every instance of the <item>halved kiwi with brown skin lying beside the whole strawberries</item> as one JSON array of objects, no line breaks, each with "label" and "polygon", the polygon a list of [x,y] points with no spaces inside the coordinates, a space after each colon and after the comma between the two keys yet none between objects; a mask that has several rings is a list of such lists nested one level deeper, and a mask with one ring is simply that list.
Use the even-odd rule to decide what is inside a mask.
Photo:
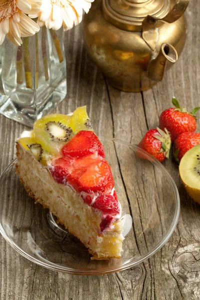
[{"label": "halved kiwi with brown skin lying beside the whole strawberries", "polygon": [[188,150],[181,158],[179,174],[189,196],[200,203],[200,144]]}]

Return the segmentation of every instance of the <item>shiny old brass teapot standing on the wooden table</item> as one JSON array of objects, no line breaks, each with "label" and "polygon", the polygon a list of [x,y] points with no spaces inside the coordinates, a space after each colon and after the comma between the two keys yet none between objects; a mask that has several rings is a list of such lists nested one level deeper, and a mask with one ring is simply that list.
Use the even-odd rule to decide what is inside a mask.
[{"label": "shiny old brass teapot standing on the wooden table", "polygon": [[189,0],[95,0],[84,16],[89,56],[110,84],[143,91],[162,80],[181,53]]}]

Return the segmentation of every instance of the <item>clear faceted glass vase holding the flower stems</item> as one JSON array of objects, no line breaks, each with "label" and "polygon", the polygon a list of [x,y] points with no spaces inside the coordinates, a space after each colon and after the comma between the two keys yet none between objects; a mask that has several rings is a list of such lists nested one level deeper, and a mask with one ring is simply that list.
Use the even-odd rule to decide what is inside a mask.
[{"label": "clear faceted glass vase holding the flower stems", "polygon": [[0,46],[0,113],[32,126],[66,96],[64,32],[46,29]]}]

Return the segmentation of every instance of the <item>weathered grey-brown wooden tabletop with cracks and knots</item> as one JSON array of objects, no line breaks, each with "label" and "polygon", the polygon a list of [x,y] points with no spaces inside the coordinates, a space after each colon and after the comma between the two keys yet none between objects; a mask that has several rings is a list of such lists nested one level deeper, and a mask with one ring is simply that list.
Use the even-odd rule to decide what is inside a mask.
[{"label": "weathered grey-brown wooden tabletop with cracks and knots", "polygon": [[[187,9],[187,40],[178,62],[162,82],[143,93],[109,86],[89,61],[81,25],[66,34],[68,93],[56,109],[67,113],[87,104],[96,133],[138,143],[175,95],[189,109],[200,104],[200,2]],[[199,124],[199,112],[198,112]],[[0,172],[15,157],[14,141],[25,126],[0,115]],[[199,129],[199,125],[198,125]],[[200,297],[200,206],[185,193],[177,166],[164,162],[181,201],[178,225],[169,241],[151,258],[119,273],[76,276],[39,267],[21,257],[0,237],[0,299],[193,300]]]}]

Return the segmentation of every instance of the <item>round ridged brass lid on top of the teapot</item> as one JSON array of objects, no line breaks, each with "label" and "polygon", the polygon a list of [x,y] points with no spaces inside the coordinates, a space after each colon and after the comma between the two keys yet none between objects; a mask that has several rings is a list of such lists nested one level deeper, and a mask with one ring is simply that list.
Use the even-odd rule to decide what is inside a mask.
[{"label": "round ridged brass lid on top of the teapot", "polygon": [[120,29],[140,31],[147,15],[164,17],[174,0],[103,0],[103,15]]}]

